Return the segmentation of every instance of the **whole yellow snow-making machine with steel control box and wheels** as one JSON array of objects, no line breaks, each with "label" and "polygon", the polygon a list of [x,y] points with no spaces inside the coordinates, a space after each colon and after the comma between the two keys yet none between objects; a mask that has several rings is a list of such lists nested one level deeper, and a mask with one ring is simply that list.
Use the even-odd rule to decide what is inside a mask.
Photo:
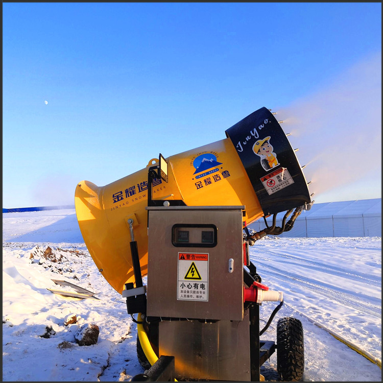
[{"label": "whole yellow snow-making machine with steel control box and wheels", "polygon": [[[274,352],[281,380],[302,378],[299,320],[279,319],[276,342],[261,340],[283,292],[262,282],[249,257],[249,246],[291,230],[314,202],[280,123],[260,108],[227,129],[225,139],[160,154],[103,187],[77,185],[85,244],[137,323],[146,370],[132,380],[260,381],[260,366]],[[279,212],[285,213],[277,227]],[[260,218],[265,229],[248,228]],[[260,328],[265,302],[277,303]]]}]

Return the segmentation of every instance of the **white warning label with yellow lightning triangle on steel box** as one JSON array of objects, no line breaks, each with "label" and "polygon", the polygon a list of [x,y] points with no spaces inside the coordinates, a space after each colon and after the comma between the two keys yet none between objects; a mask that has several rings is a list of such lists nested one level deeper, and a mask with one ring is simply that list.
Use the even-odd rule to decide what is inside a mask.
[{"label": "white warning label with yellow lightning triangle on steel box", "polygon": [[178,253],[177,300],[208,301],[209,254]]}]

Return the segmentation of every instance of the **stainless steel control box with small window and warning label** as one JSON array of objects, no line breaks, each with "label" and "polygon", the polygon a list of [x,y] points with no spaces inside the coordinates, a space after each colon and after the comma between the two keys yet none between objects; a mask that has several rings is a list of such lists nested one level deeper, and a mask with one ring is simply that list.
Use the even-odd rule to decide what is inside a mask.
[{"label": "stainless steel control box with small window and warning label", "polygon": [[147,209],[147,315],[242,321],[244,206]]}]

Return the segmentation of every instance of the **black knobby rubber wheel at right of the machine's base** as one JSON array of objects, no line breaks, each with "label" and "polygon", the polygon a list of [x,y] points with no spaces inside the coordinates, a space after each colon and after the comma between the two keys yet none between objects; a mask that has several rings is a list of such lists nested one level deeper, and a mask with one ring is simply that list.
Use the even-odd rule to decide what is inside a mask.
[{"label": "black knobby rubber wheel at right of the machine's base", "polygon": [[304,371],[303,327],[298,319],[286,317],[278,320],[277,371],[280,380],[302,380]]}]

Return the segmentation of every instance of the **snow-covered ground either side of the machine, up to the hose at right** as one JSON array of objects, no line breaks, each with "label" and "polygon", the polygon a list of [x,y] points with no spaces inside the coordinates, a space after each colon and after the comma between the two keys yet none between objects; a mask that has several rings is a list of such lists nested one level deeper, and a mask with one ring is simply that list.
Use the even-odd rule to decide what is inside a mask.
[{"label": "snow-covered ground either side of the machine, up to the hose at right", "polygon": [[[265,237],[251,248],[251,259],[262,283],[284,294],[261,339],[276,340],[281,317],[301,320],[303,380],[381,381],[376,364],[323,328],[381,360],[380,237]],[[52,279],[82,286],[99,300],[53,294],[47,289],[65,288]],[[262,303],[261,328],[275,306]],[[64,325],[73,314],[77,323]],[[86,324],[99,327],[98,343],[79,346],[75,337]],[[276,380],[275,371],[276,353],[261,372]],[[142,372],[136,325],[94,265],[75,210],[4,213],[3,381],[124,381]]]}]

